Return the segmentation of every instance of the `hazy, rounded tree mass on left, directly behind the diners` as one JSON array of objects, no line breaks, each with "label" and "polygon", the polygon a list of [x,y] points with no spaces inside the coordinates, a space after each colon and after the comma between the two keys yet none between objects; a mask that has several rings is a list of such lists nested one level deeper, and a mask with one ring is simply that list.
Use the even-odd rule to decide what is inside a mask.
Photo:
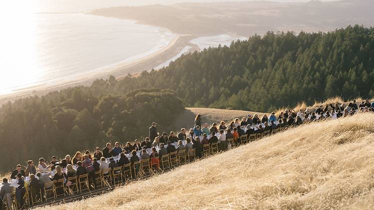
[{"label": "hazy, rounded tree mass on left, directly behind the diners", "polygon": [[7,103],[0,108],[0,171],[40,156],[64,158],[107,141],[143,138],[153,121],[162,129],[183,109],[174,91],[160,89],[97,96],[76,87]]}]

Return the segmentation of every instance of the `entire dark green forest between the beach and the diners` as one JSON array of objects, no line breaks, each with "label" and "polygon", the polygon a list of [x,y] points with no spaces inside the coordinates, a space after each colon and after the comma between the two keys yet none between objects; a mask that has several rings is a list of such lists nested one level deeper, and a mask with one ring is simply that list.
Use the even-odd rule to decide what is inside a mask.
[{"label": "entire dark green forest between the beach and the diners", "polygon": [[[172,91],[173,90],[173,91]],[[268,32],[183,55],[160,71],[96,80],[0,108],[0,170],[40,156],[125,142],[173,123],[184,106],[270,112],[300,101],[374,96],[374,31]]]}]

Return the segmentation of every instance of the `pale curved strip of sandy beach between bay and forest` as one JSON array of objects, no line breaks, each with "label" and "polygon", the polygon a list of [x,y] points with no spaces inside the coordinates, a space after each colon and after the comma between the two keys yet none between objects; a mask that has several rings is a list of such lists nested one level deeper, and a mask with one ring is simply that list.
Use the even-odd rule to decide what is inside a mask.
[{"label": "pale curved strip of sandy beach between bay and forest", "polygon": [[15,93],[2,95],[0,96],[0,105],[8,102],[14,101],[16,99],[24,98],[27,96],[42,96],[51,91],[58,91],[67,87],[74,87],[80,85],[91,85],[91,83],[100,78],[107,79],[110,75],[115,76],[116,78],[121,78],[128,74],[136,74],[142,71],[148,71],[154,68],[155,66],[162,64],[166,60],[177,55],[185,46],[191,46],[189,51],[198,50],[198,47],[194,44],[189,43],[189,40],[195,38],[193,35],[176,35],[169,44],[162,48],[161,50],[137,59],[132,62],[124,62],[110,65],[108,67],[100,69],[100,71],[91,72],[74,78],[69,81],[62,81],[52,85],[40,85],[33,86],[27,89],[17,90]]}]

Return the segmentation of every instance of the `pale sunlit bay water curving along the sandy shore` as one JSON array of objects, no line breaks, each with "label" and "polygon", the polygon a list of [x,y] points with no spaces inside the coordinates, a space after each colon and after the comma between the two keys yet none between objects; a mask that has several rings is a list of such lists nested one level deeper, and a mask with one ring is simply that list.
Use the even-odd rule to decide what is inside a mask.
[{"label": "pale sunlit bay water curving along the sandy shore", "polygon": [[134,61],[166,47],[174,36],[132,20],[83,13],[37,13],[8,29],[0,48],[0,94]]}]

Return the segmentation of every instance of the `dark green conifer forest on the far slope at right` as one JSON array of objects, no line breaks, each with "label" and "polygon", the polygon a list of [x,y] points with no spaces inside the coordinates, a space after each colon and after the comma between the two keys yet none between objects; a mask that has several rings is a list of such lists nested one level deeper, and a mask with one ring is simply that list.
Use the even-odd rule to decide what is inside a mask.
[{"label": "dark green conifer forest on the far slope at right", "polygon": [[175,90],[188,106],[263,112],[335,96],[373,97],[374,31],[355,25],[329,33],[268,32],[91,86],[95,94],[154,87]]}]

